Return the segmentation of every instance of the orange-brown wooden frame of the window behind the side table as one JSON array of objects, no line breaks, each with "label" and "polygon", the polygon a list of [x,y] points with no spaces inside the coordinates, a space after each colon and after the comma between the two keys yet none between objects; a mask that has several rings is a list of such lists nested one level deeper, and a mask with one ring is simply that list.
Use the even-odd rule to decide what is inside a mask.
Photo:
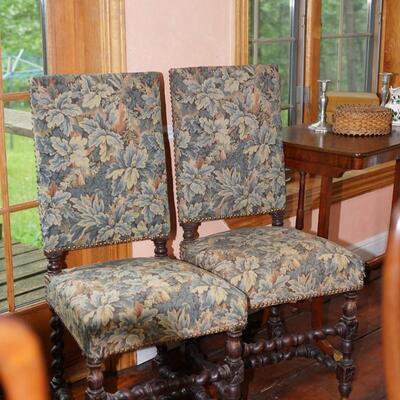
[{"label": "orange-brown wooden frame of the window behind the side table", "polygon": [[[235,0],[235,64],[248,63],[249,52],[249,1]],[[396,0],[397,1],[397,0]],[[380,49],[381,71],[397,71],[400,66],[400,57],[393,54],[399,48],[400,29],[396,16],[400,13],[400,3],[393,0],[383,2],[382,13],[382,42]],[[321,41],[321,12],[322,0],[308,0],[306,13],[306,43],[305,43],[305,75],[304,85],[310,88],[310,100],[304,104],[304,121],[310,123],[318,115],[319,89],[316,77],[319,76],[320,41]],[[397,68],[397,69],[396,69]],[[395,77],[400,84],[400,75]],[[380,189],[393,184],[394,163],[378,165],[374,168],[351,171],[335,181],[333,185],[333,202],[360,196],[364,193]],[[289,184],[287,197],[286,217],[296,215],[298,186],[297,182]],[[319,185],[311,185],[306,189],[306,210],[318,208]],[[251,217],[248,219],[226,220],[230,228],[240,226],[254,226],[270,223],[268,216]]]}]

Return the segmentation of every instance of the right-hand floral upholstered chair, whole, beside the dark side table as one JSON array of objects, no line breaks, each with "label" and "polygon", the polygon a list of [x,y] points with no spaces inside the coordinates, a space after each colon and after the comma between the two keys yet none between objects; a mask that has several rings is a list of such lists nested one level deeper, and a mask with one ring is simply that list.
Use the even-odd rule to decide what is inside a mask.
[{"label": "right-hand floral upholstered chair, whole, beside the dark side table", "polygon": [[[285,169],[276,66],[172,69],[177,208],[181,258],[246,293],[251,310],[270,309],[266,340],[244,344],[249,366],[313,357],[337,371],[343,399],[351,391],[356,294],[363,262],[326,239],[283,227]],[[198,237],[203,221],[272,214],[272,226]],[[338,324],[286,334],[278,306],[345,293]],[[341,338],[336,357],[315,343]]]}]

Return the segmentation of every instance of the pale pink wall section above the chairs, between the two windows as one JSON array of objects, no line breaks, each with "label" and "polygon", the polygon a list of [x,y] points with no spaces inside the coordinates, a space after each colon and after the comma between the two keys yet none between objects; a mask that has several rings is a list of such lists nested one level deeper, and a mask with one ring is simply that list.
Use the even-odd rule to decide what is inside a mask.
[{"label": "pale pink wall section above the chairs, between the two windows", "polygon": [[126,0],[128,71],[168,70],[234,62],[235,0]]}]

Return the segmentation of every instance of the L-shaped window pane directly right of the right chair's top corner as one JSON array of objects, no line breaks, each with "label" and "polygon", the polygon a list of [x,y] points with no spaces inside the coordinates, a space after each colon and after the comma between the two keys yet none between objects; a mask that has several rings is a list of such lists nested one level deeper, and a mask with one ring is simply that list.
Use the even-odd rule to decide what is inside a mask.
[{"label": "L-shaped window pane directly right of the right chair's top corner", "polygon": [[281,76],[282,106],[289,103],[290,43],[263,44],[258,47],[260,64],[277,64]]}]

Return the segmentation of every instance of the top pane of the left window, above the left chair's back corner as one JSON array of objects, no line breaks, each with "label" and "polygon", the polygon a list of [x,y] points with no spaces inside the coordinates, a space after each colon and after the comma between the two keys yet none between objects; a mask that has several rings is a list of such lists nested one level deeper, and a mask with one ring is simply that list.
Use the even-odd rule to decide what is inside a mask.
[{"label": "top pane of the left window, above the left chair's back corner", "polygon": [[0,1],[0,41],[4,91],[27,90],[28,78],[43,74],[38,0]]}]

